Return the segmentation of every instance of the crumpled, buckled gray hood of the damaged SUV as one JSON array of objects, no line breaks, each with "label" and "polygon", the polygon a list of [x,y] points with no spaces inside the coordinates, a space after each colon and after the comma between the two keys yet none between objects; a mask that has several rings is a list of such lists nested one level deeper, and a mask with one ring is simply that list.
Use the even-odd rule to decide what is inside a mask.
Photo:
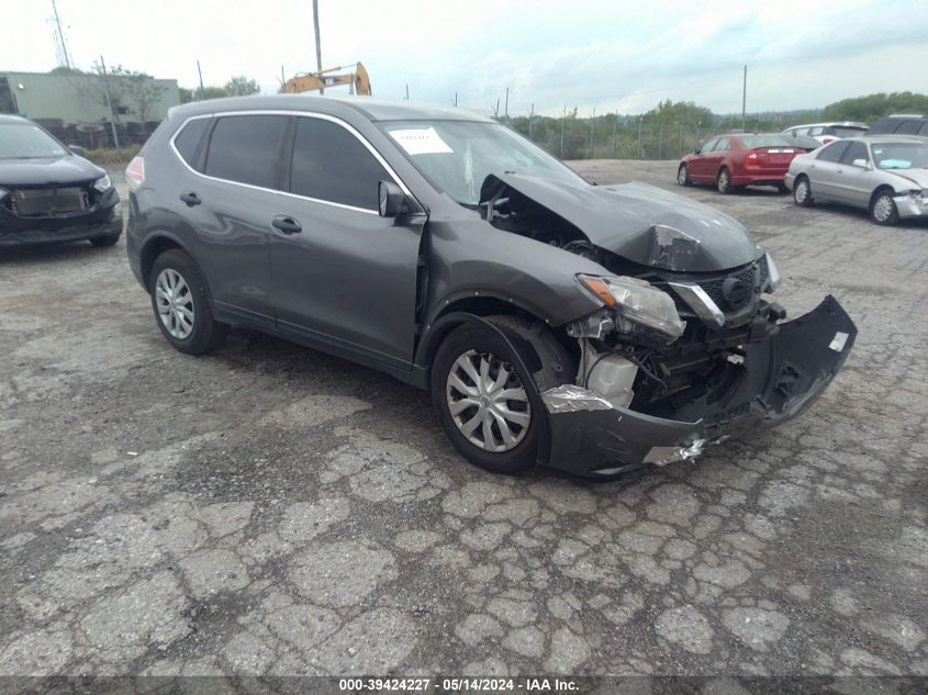
[{"label": "crumpled, buckled gray hood of the damaged SUV", "polygon": [[563,217],[592,244],[642,266],[711,272],[762,254],[737,220],[647,183],[572,184],[497,173],[487,177],[480,200],[490,200],[501,183]]}]

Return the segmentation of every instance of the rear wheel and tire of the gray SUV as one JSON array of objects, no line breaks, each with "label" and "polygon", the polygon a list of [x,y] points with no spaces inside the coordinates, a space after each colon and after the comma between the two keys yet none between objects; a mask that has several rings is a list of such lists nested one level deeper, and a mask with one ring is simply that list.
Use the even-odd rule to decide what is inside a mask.
[{"label": "rear wheel and tire of the gray SUV", "polygon": [[213,318],[206,283],[190,256],[177,248],[165,251],[155,259],[148,283],[155,321],[176,349],[203,355],[225,339],[228,326]]}]

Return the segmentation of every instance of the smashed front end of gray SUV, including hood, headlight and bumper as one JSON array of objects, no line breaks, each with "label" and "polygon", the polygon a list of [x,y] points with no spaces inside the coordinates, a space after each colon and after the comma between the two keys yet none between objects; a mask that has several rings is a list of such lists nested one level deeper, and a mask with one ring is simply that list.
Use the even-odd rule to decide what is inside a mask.
[{"label": "smashed front end of gray SUV, including hood, headlight and bumper", "polygon": [[554,468],[620,474],[783,423],[821,394],[853,346],[857,328],[836,299],[784,322],[769,299],[780,272],[748,231],[660,189],[493,175],[481,215],[602,268],[575,276],[600,309],[558,327],[575,374],[551,388],[534,373],[550,435],[543,462]]}]

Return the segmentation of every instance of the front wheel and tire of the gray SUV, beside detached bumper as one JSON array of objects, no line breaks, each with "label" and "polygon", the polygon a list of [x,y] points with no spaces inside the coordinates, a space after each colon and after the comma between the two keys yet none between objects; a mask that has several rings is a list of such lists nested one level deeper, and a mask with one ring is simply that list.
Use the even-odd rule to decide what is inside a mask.
[{"label": "front wheel and tire of the gray SUV, beside detached bumper", "polygon": [[[487,321],[504,328],[508,316]],[[521,473],[538,460],[544,405],[510,343],[480,324],[456,328],[432,365],[432,401],[445,434],[470,462]]]}]

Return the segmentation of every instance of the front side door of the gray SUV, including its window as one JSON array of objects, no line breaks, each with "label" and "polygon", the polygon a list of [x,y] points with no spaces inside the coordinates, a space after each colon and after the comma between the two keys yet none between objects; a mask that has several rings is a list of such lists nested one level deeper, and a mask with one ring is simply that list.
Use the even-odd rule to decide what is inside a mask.
[{"label": "front side door of the gray SUV, including its window", "polygon": [[425,215],[378,214],[378,182],[400,181],[340,120],[297,116],[290,142],[289,193],[265,220],[292,223],[275,227],[270,246],[278,327],[360,361],[407,369]]}]

